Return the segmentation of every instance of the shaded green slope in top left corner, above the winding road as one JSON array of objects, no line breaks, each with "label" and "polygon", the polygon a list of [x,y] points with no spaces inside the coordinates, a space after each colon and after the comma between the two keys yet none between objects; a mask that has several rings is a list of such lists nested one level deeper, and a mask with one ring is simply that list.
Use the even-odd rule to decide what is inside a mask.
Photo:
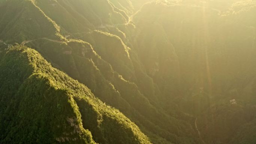
[{"label": "shaded green slope in top left corner, above the winding road", "polygon": [[32,1],[8,0],[0,5],[0,17],[0,37],[7,43],[42,37],[55,39],[60,32],[60,27]]}]

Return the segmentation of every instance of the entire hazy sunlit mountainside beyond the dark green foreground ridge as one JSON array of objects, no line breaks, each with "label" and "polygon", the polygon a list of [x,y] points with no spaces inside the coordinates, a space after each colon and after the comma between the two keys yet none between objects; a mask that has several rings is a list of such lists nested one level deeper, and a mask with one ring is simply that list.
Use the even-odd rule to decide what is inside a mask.
[{"label": "entire hazy sunlit mountainside beyond the dark green foreground ridge", "polygon": [[[15,42],[36,49],[154,144],[246,143],[254,135],[255,2],[148,1],[2,0],[0,57]],[[90,120],[83,125],[93,140],[112,142]]]}]

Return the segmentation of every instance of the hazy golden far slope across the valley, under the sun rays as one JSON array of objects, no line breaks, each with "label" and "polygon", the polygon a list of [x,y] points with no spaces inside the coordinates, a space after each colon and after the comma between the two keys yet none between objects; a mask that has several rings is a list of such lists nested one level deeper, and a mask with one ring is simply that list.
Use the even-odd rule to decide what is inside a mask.
[{"label": "hazy golden far slope across the valley, under the sun rays", "polygon": [[[160,74],[177,78],[161,79],[158,83],[167,99],[163,103],[168,107],[174,102],[183,112],[198,117],[194,122],[202,141],[207,144],[255,143],[256,103],[252,101],[256,71],[255,1],[225,1],[228,7],[220,9],[216,9],[221,5],[217,1],[197,2],[145,4],[133,17],[137,29],[134,48],[142,60],[147,56],[157,62],[159,49],[164,52],[174,49],[177,57],[171,58],[177,62],[168,62],[165,66],[174,68],[178,75],[170,71]],[[161,31],[161,35],[155,31]],[[151,39],[152,34],[161,39]],[[150,42],[171,43],[172,46],[157,44],[159,47],[155,48]],[[144,47],[153,52],[145,54]],[[151,65],[147,70],[149,75],[154,68],[150,60],[144,61],[144,65]],[[164,61],[159,65],[161,63]],[[157,73],[160,71],[153,77],[156,83]]]}]

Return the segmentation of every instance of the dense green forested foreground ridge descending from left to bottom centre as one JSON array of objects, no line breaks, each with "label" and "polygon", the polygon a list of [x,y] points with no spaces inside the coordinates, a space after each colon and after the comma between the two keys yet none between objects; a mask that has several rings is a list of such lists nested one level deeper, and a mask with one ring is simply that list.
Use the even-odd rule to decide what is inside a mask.
[{"label": "dense green forested foreground ridge descending from left to bottom centre", "polygon": [[[16,56],[15,60],[10,60],[10,58],[13,55],[19,55],[19,57]],[[4,67],[6,67],[6,63],[8,63],[8,62],[12,62],[12,63],[16,62],[16,65],[17,65],[17,64],[19,64],[19,62],[17,62],[17,61],[21,61],[21,62],[23,62],[22,64],[26,64],[24,62],[26,57],[27,57],[27,61],[30,62],[29,66],[28,66],[28,67],[30,67],[30,70],[28,70],[28,71],[31,71],[30,73],[32,73],[32,74],[31,75],[28,74],[27,76],[18,74],[21,77],[27,77],[27,78],[24,79],[24,83],[21,83],[20,88],[18,88],[16,90],[16,92],[13,91],[14,92],[13,95],[17,96],[17,99],[15,99],[16,102],[20,101],[21,104],[17,103],[19,105],[17,108],[18,116],[9,117],[10,120],[21,118],[20,125],[22,126],[22,122],[26,122],[25,120],[34,119],[35,121],[31,122],[28,125],[35,123],[36,127],[38,127],[39,129],[45,128],[44,127],[45,124],[43,124],[43,123],[47,123],[49,119],[52,120],[52,122],[54,122],[56,120],[55,123],[51,122],[50,125],[54,124],[51,129],[52,129],[52,131],[54,131],[54,134],[53,134],[54,138],[57,141],[63,142],[63,143],[65,141],[69,141],[69,143],[77,143],[80,141],[79,143],[82,143],[82,141],[83,141],[83,143],[94,144],[95,143],[94,140],[96,140],[101,143],[117,143],[117,144],[119,144],[119,143],[143,143],[143,144],[148,143],[148,144],[150,144],[150,142],[147,140],[146,136],[140,132],[140,130],[138,129],[137,126],[135,126],[134,123],[132,123],[129,119],[125,118],[125,116],[122,115],[118,110],[113,109],[113,108],[107,106],[106,104],[103,104],[103,102],[101,102],[99,99],[95,98],[95,96],[90,92],[90,90],[87,87],[78,83],[75,80],[70,79],[67,75],[65,75],[61,71],[58,71],[55,68],[52,68],[51,65],[48,64],[48,62],[46,62],[40,56],[40,54],[38,52],[36,52],[35,50],[25,48],[24,46],[15,46],[15,47],[10,48],[9,50],[7,50],[6,55],[3,56],[1,59],[1,69],[8,70],[8,68],[4,68]],[[5,64],[5,66],[3,64]],[[19,66],[17,68],[20,69],[21,66]],[[26,68],[24,68],[23,70],[27,71]],[[1,72],[1,73],[6,74],[4,72]],[[3,80],[3,78],[4,78],[4,76],[1,77],[1,80]],[[63,80],[65,80],[65,81],[63,81]],[[38,87],[38,86],[40,86],[40,87]],[[40,88],[40,91],[38,88]],[[3,90],[4,90],[3,87],[1,87],[1,91],[3,91]],[[54,95],[52,95],[52,93]],[[56,96],[61,96],[61,95],[64,95],[64,96],[62,96],[63,98],[61,98],[61,97],[56,98]],[[36,96],[36,97],[31,97],[31,96]],[[40,96],[42,96],[42,97],[40,97]],[[49,96],[52,96],[52,98],[50,98]],[[43,100],[43,99],[40,100],[41,98],[43,98],[45,100]],[[42,105],[45,105],[47,103],[51,104],[51,102],[49,101],[50,99],[54,102],[57,102],[57,103],[55,103],[57,106],[57,110],[50,109],[50,111],[54,112],[53,114],[54,114],[55,118],[53,118],[52,117],[53,115],[51,115],[47,119],[43,120],[43,123],[40,121],[37,122],[37,119],[40,120],[43,117],[45,117],[45,116],[40,117],[40,115],[47,114],[47,113],[45,113],[45,110],[42,109],[43,108]],[[39,102],[41,101],[39,103],[39,107],[34,107],[34,109],[33,109],[33,107],[26,106],[26,105],[33,104],[33,102],[36,102],[36,101],[39,101]],[[66,104],[63,102],[66,102]],[[65,106],[65,105],[69,105],[68,103],[70,104],[71,107]],[[10,101],[10,104],[17,105],[13,101]],[[40,106],[40,104],[42,104],[42,105]],[[53,105],[51,104],[50,106],[52,107]],[[11,107],[11,106],[9,105],[9,107]],[[25,109],[23,109],[23,108],[25,108]],[[63,109],[63,108],[65,108],[65,109]],[[70,112],[68,112],[68,111],[70,111],[69,110],[70,108],[74,108],[74,110],[71,110],[71,111],[74,111],[73,116],[68,116],[68,113],[70,113]],[[7,110],[8,110],[8,108],[7,108]],[[40,113],[39,113],[39,111],[40,111]],[[55,111],[58,111],[58,113],[56,113]],[[3,112],[3,111],[1,111],[1,112]],[[63,112],[65,112],[65,115],[61,114]],[[30,117],[30,116],[32,116],[32,117]],[[60,117],[58,117],[58,116],[60,116]],[[67,117],[67,119],[65,119],[65,117]],[[72,118],[72,117],[75,117],[75,118]],[[3,117],[1,117],[1,118],[3,118]],[[125,119],[122,120],[123,118],[125,118]],[[95,119],[95,121],[94,121],[94,119]],[[115,121],[118,123],[116,123]],[[3,121],[3,122],[5,124],[5,122],[7,122],[7,121]],[[42,123],[41,126],[38,125],[39,123]],[[74,132],[72,132],[73,130],[70,131],[70,130],[66,129],[66,127],[63,127],[64,129],[60,129],[62,126],[59,128],[60,125],[64,125],[65,123],[67,126],[69,123],[69,125],[71,125],[71,128],[72,128],[72,126],[75,127]],[[77,123],[77,125],[74,123]],[[115,125],[117,125],[117,127],[113,128],[108,123],[113,123],[113,124],[116,123]],[[122,127],[119,127],[118,125],[122,125]],[[1,126],[3,126],[3,125],[1,125]],[[89,128],[90,131],[92,131],[93,136],[91,135],[91,132],[88,129],[87,130],[84,129],[84,127],[86,129]],[[31,128],[31,127],[27,126],[26,129],[28,129],[28,128]],[[32,129],[33,128],[34,128],[34,126],[32,126]],[[115,131],[113,131],[112,128],[115,129]],[[3,129],[6,129],[6,128],[3,128]],[[66,129],[66,131],[65,131],[65,129]],[[103,131],[104,129],[108,129],[107,133],[105,133]],[[119,129],[119,131],[118,131],[118,129]],[[31,129],[30,129],[30,131],[31,131]],[[131,137],[128,136],[128,133],[130,134],[130,132],[128,132],[127,134],[123,133],[126,136],[124,136],[123,138],[120,138],[119,136],[122,135],[122,131],[127,131],[127,132],[131,131],[132,132],[131,135],[134,135],[134,139],[132,138],[133,142],[129,140]],[[37,134],[37,131],[34,131],[34,132],[35,132],[35,134]],[[61,133],[61,132],[63,132],[63,133]],[[69,135],[66,135],[66,132]],[[118,132],[119,136],[111,137],[110,134],[113,133],[113,135],[116,135],[116,134],[114,134],[115,132]],[[80,133],[79,134],[80,136],[79,135],[78,135],[79,137],[75,136],[76,133],[78,133],[78,134]],[[97,134],[95,135],[95,133],[97,133]],[[14,132],[13,134],[18,135],[19,132],[17,131],[17,132]],[[65,135],[66,135],[66,137],[65,137]],[[74,135],[74,136],[72,136],[72,135]],[[141,135],[142,137],[139,135]],[[26,135],[24,135],[24,137],[25,136]],[[5,139],[3,139],[3,142],[8,142],[7,138],[9,138],[9,137],[12,138],[10,136],[10,134],[7,133],[7,136]],[[2,138],[4,138],[4,135]],[[28,137],[28,138],[31,138],[31,137]],[[92,140],[92,138],[94,138],[94,140]],[[13,137],[13,140],[15,140],[15,139],[16,139],[16,137]],[[30,139],[31,141],[26,140],[27,143],[31,143],[31,142],[33,143],[33,142],[37,141],[37,140],[34,141],[33,138],[31,138],[31,139]],[[40,139],[40,135],[39,135],[39,139]],[[19,141],[25,142],[25,140],[22,138]],[[74,142],[72,142],[72,141],[74,141]],[[39,141],[37,141],[37,143],[38,142]],[[54,142],[54,141],[52,141],[52,142]]]}]

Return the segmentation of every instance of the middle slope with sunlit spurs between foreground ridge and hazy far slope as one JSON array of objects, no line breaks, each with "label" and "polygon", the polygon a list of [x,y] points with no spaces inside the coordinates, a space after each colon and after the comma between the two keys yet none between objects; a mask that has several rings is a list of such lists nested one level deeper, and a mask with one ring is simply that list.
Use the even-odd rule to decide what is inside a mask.
[{"label": "middle slope with sunlit spurs between foreground ridge and hazy far slope", "polygon": [[[31,4],[31,1],[26,2],[26,4]],[[77,14],[77,11],[74,12],[74,10],[79,9],[75,8],[74,4],[83,6],[85,3],[91,3],[97,6],[96,2],[77,1],[68,3],[68,1],[52,1],[53,5],[50,6],[47,1],[33,1],[32,4],[43,12],[38,13],[38,17],[47,15],[46,19],[54,21],[49,21],[52,26],[58,24],[59,32],[51,31],[55,37],[48,38],[42,35],[41,38],[38,38],[31,37],[21,31],[24,35],[22,40],[25,40],[23,44],[38,50],[55,67],[88,86],[103,102],[118,108],[134,121],[141,131],[150,137],[153,143],[170,144],[185,143],[186,141],[191,144],[198,143],[196,131],[190,126],[190,122],[178,120],[177,117],[170,116],[162,110],[157,98],[158,95],[161,95],[158,87],[153,83],[152,78],[147,75],[137,53],[127,46],[129,45],[128,39],[125,33],[121,31],[128,28],[132,30],[134,27],[132,24],[125,24],[127,20],[118,22],[115,20],[123,19],[125,16],[118,14],[109,17],[101,15],[99,11],[97,15],[101,20],[105,19],[102,26],[100,23],[88,20],[89,18],[84,16],[81,11],[79,13],[82,16],[77,17],[80,14]],[[7,5],[8,3],[5,6]],[[103,7],[106,6],[108,5],[106,4]],[[55,12],[55,9],[58,9],[61,13]],[[97,10],[97,8],[94,8],[87,15],[92,15]],[[113,9],[108,10],[108,13],[116,12]],[[63,18],[64,16],[67,16],[67,18]],[[87,24],[87,21],[90,21],[91,24]],[[72,25],[73,23],[75,25]],[[84,27],[79,27],[79,23],[85,24]],[[29,25],[41,27],[33,19]],[[8,28],[12,30],[12,27]],[[94,30],[94,28],[100,30]],[[74,33],[76,31],[82,31],[82,33]],[[33,33],[33,29],[27,29],[26,32]],[[74,39],[79,37],[78,39],[89,42],[91,45],[81,40],[68,39],[70,37],[65,39],[60,34],[70,35]],[[4,42],[7,41],[4,36],[1,39]],[[22,43],[22,40],[17,39],[13,42]],[[182,112],[178,113],[184,116]]]}]

